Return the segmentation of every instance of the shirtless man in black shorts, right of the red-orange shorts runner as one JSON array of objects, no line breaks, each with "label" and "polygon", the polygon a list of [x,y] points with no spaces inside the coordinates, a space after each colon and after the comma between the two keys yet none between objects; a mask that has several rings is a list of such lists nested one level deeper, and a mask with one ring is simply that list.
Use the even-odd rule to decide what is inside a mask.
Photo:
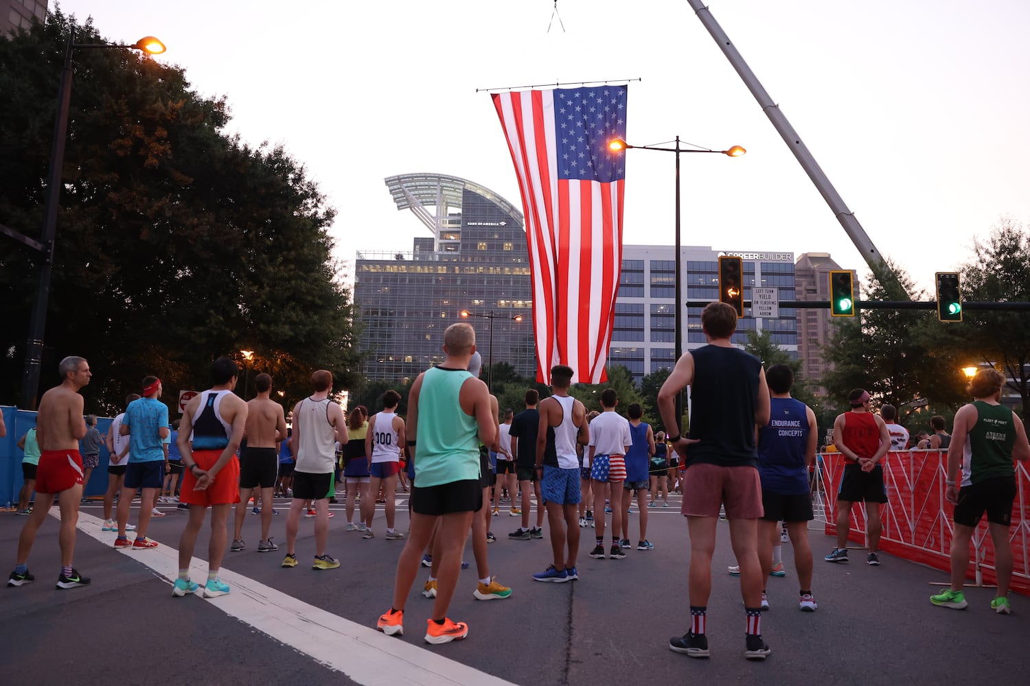
[{"label": "shirtless man in black shorts, right of the red-orange shorts runner", "polygon": [[261,540],[258,552],[278,550],[268,535],[272,527],[272,494],[279,470],[276,441],[286,437],[286,419],[282,405],[272,400],[272,377],[261,373],[254,380],[258,397],[247,401],[247,446],[240,461],[240,502],[236,505],[236,526],[233,533],[233,550],[247,547],[243,543],[243,519],[247,503],[256,488],[261,492]]}]

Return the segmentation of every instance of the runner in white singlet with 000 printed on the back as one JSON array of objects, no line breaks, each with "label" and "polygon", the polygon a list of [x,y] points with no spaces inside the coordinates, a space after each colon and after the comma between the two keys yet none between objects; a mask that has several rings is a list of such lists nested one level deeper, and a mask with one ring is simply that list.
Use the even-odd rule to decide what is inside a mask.
[{"label": "runner in white singlet with 000 printed on the back", "polygon": [[386,496],[386,540],[397,541],[404,534],[393,528],[397,506],[393,495],[397,491],[397,475],[401,471],[401,450],[404,449],[404,420],[398,417],[397,406],[401,394],[390,389],[383,393],[383,410],[369,419],[369,431],[365,434],[365,455],[369,462],[369,497],[362,499],[362,519],[366,532],[362,538],[375,538],[372,532],[372,517],[376,513],[376,494],[383,486]]}]

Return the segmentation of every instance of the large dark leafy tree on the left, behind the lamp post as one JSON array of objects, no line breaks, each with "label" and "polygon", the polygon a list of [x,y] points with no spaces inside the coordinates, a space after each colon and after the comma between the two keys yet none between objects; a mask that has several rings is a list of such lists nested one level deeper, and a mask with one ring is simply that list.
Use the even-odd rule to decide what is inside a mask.
[{"label": "large dark leafy tree on the left, behind the lamp post", "polygon": [[[73,20],[0,38],[0,223],[42,225],[57,82]],[[100,42],[88,22],[76,42]],[[335,211],[281,146],[229,136],[225,98],[130,50],[77,50],[41,387],[91,362],[87,407],[112,409],[156,373],[166,400],[206,387],[218,355],[254,351],[287,405],[317,368],[353,380],[355,326],[328,229]],[[37,255],[2,238],[9,293],[0,398],[16,397]],[[261,365],[261,366],[259,366]],[[42,390],[42,389],[41,389]],[[23,403],[24,404],[24,403]]]}]

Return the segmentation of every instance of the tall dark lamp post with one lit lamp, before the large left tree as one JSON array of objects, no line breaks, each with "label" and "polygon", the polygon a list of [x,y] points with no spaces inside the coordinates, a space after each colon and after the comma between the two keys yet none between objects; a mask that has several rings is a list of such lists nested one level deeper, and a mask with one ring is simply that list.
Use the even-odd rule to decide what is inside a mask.
[{"label": "tall dark lamp post with one lit lamp, before the large left tree", "polygon": [[[46,329],[46,306],[50,296],[50,274],[54,267],[54,237],[57,234],[58,204],[61,200],[61,171],[64,167],[65,140],[68,135],[68,110],[71,103],[71,55],[74,48],[135,49],[149,55],[161,55],[165,44],[153,36],[140,38],[132,45],[111,43],[76,43],[75,28],[68,30],[65,62],[58,85],[58,111],[54,122],[54,142],[50,144],[50,171],[46,181],[46,206],[43,212],[43,233],[40,252],[42,263],[36,275],[36,292],[29,316],[29,338],[25,346],[25,371],[22,377],[22,404],[27,409],[36,408],[39,392],[39,367],[43,357],[43,334]],[[13,237],[18,238],[18,237]]]}]

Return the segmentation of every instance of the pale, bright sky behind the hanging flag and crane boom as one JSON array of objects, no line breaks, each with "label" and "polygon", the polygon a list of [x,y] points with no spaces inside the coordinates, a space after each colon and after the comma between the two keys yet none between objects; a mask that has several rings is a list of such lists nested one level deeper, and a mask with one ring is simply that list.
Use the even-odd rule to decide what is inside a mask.
[{"label": "pale, bright sky behind the hanging flag and crane boom", "polygon": [[[338,211],[341,260],[411,250],[430,234],[398,211],[388,176],[457,176],[520,204],[497,115],[477,89],[640,79],[629,83],[630,144],[680,136],[748,150],[682,158],[684,246],[828,252],[866,273],[685,0],[60,5],[92,15],[112,42],[160,37],[158,60],[184,68],[198,94],[228,98],[228,133],[302,161]],[[1001,216],[1030,223],[1026,0],[709,8],[873,245],[918,286],[967,261]],[[674,172],[672,154],[626,152],[624,243],[673,245]]]}]

